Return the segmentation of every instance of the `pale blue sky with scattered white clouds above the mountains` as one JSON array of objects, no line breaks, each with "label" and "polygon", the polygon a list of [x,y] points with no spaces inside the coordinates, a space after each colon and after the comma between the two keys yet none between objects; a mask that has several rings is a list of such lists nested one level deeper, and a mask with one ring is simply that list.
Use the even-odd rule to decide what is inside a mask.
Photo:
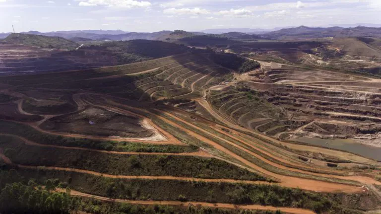
[{"label": "pale blue sky with scattered white clouds above the mountains", "polygon": [[0,0],[0,32],[153,32],[373,23],[381,0]]}]

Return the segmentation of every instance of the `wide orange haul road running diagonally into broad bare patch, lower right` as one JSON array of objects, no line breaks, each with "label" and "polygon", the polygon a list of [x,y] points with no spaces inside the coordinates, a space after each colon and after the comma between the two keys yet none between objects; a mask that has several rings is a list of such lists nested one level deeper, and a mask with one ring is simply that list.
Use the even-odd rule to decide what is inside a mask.
[{"label": "wide orange haul road running diagonally into broad bare patch, lower right", "polygon": [[[113,101],[109,101],[110,104],[114,103],[116,105],[119,105],[119,106],[123,106],[127,109],[130,109],[130,108],[133,108],[133,107],[130,107],[130,106],[126,106],[126,105],[123,105],[123,104],[120,104],[120,103],[115,103]],[[146,111],[146,110],[142,110],[142,109],[138,109],[140,111],[144,111],[146,113],[149,113],[149,114],[153,114],[149,111]],[[304,178],[297,178],[297,177],[289,177],[289,176],[283,176],[283,175],[279,175],[279,174],[276,174],[276,173],[273,173],[273,172],[270,172],[268,170],[265,170],[257,165],[255,165],[254,163],[246,160],[245,158],[235,154],[234,152],[230,151],[229,149],[221,146],[220,144],[218,143],[215,143],[201,135],[198,135],[196,134],[195,132],[191,131],[191,130],[188,130],[160,115],[156,115],[155,116],[159,117],[161,120],[165,121],[166,123],[172,125],[172,126],[175,126],[175,127],[178,127],[179,129],[183,130],[184,132],[186,132],[187,134],[199,139],[200,141],[203,141],[204,143],[208,143],[209,145],[213,146],[214,148],[220,150],[220,151],[223,151],[224,153],[234,157],[235,159],[241,161],[242,163],[246,164],[247,166],[251,167],[252,169],[258,171],[258,172],[261,172],[263,174],[265,174],[267,177],[269,178],[276,178],[276,179],[279,179],[281,182],[278,184],[280,186],[284,186],[284,187],[291,187],[291,188],[301,188],[301,189],[304,189],[304,190],[311,190],[311,191],[319,191],[319,192],[348,192],[348,193],[352,193],[352,192],[360,192],[362,190],[362,188],[360,187],[356,187],[356,186],[351,186],[351,185],[346,185],[346,184],[337,184],[337,183],[329,183],[329,182],[323,182],[323,181],[317,181],[317,180],[309,180],[309,179],[304,179]],[[182,121],[182,122],[185,122],[181,119],[179,119],[179,121]],[[185,122],[187,123],[187,122]],[[193,126],[191,124],[189,124],[190,126],[194,127],[195,129],[198,129],[198,127],[196,126]],[[224,140],[224,139],[222,139]],[[235,145],[234,143],[232,143],[233,145]],[[263,158],[262,158],[263,159]]]}]

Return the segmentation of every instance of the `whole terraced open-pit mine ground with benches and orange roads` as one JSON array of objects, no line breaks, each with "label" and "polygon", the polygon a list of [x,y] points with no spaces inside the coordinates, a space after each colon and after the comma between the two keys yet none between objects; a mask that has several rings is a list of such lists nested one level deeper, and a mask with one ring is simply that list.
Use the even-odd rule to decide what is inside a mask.
[{"label": "whole terraced open-pit mine ground with benches and orange roads", "polygon": [[[22,61],[16,55],[9,57]],[[380,162],[289,140],[380,145],[381,81],[260,63],[237,73],[190,51],[2,76],[1,167],[40,184],[60,179],[72,195],[132,204],[296,214],[379,209]]]}]

